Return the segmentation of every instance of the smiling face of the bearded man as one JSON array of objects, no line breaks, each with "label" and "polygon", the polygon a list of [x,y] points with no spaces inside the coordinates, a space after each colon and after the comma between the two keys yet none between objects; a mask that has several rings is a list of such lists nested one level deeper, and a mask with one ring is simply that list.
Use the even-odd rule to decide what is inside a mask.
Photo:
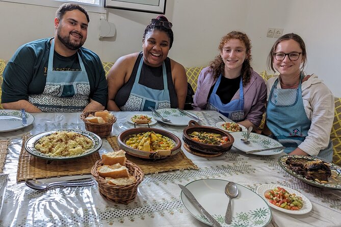
[{"label": "smiling face of the bearded man", "polygon": [[55,19],[57,37],[70,50],[83,46],[88,34],[88,20],[80,10],[67,11],[61,20]]}]

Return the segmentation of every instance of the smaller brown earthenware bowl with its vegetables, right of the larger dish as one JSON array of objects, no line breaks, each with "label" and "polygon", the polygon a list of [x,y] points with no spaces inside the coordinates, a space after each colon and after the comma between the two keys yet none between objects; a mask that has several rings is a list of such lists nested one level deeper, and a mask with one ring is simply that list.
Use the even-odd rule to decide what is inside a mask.
[{"label": "smaller brown earthenware bowl with its vegetables, right of the larger dish", "polygon": [[183,129],[182,139],[191,149],[210,154],[229,151],[234,142],[230,133],[214,127],[201,126],[193,120]]}]

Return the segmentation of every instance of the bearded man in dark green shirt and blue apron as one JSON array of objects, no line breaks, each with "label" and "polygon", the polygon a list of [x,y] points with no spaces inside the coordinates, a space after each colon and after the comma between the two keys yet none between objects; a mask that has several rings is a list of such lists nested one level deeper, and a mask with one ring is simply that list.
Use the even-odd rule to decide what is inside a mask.
[{"label": "bearded man in dark green shirt and blue apron", "polygon": [[83,46],[89,15],[77,4],[57,10],[55,37],[22,45],[8,62],[2,85],[5,109],[28,112],[102,110],[108,83],[97,54]]}]

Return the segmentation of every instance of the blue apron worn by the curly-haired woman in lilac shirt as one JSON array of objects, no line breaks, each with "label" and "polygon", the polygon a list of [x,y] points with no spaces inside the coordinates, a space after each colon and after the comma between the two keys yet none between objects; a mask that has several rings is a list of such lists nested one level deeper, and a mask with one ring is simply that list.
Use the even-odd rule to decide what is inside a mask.
[{"label": "blue apron worn by the curly-haired woman in lilac shirt", "polygon": [[222,75],[220,74],[211,96],[209,96],[206,109],[213,109],[222,113],[228,119],[234,122],[244,120],[244,92],[243,92],[243,77],[239,83],[239,99],[231,100],[229,103],[222,103],[220,97],[216,94]]}]

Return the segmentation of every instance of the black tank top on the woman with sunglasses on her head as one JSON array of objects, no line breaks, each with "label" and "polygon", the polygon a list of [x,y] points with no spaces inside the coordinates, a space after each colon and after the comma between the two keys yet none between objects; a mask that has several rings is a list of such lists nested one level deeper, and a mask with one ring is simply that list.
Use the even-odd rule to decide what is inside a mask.
[{"label": "black tank top on the woman with sunglasses on her head", "polygon": [[[125,84],[123,84],[122,88],[120,88],[120,90],[118,90],[117,92],[116,97],[115,97],[115,102],[117,106],[123,106],[127,102],[129,95],[130,95],[130,91],[132,91],[133,89],[133,84],[136,78],[136,73],[137,73],[137,69],[139,67],[141,58],[143,58],[142,52],[140,52],[135,62],[132,75],[130,75],[130,78],[128,79],[128,81]],[[166,66],[166,72],[167,72],[167,83],[168,83],[168,90],[169,90],[169,96],[170,96],[169,97],[170,104],[172,108],[177,108],[178,107],[177,96],[175,93],[175,88],[174,88],[173,79],[172,79],[170,59],[168,57],[165,60],[165,66]],[[139,84],[142,84],[143,86],[146,86],[151,89],[163,90],[164,81],[163,81],[162,71],[163,71],[162,66],[151,67],[143,62]]]}]

